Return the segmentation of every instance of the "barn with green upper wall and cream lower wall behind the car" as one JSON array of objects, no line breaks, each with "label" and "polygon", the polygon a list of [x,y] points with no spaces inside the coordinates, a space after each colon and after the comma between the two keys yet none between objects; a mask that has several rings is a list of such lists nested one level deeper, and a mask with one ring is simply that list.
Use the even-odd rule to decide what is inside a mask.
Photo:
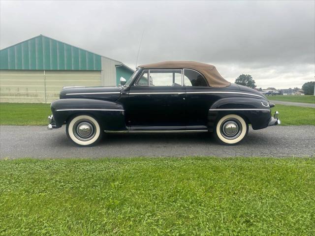
[{"label": "barn with green upper wall and cream lower wall behind the car", "polygon": [[0,101],[49,103],[65,86],[118,86],[132,73],[121,61],[39,35],[0,50]]}]

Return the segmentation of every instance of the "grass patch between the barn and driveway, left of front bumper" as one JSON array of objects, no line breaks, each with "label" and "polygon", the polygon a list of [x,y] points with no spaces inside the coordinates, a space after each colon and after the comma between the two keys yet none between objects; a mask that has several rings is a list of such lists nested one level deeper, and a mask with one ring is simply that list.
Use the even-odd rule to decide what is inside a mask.
[{"label": "grass patch between the barn and driveway, left of front bumper", "polygon": [[0,103],[0,125],[47,125],[50,104]]}]

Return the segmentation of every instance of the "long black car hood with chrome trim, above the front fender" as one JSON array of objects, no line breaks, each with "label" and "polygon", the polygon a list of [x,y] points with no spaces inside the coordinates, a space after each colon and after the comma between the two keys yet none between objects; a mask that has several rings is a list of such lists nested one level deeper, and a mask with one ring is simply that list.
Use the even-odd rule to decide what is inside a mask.
[{"label": "long black car hood with chrome trim, above the front fender", "polygon": [[60,99],[64,98],[89,98],[116,101],[120,95],[119,87],[76,87],[63,89]]}]

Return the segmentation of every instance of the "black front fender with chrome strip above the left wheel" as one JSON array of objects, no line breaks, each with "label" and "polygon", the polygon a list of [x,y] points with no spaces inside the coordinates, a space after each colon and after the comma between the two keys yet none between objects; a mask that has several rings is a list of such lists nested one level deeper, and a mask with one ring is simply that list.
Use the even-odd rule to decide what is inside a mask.
[{"label": "black front fender with chrome strip above the left wheel", "polygon": [[112,101],[67,98],[51,104],[56,127],[76,115],[87,114],[96,118],[103,130],[126,130],[125,109],[122,104]]}]

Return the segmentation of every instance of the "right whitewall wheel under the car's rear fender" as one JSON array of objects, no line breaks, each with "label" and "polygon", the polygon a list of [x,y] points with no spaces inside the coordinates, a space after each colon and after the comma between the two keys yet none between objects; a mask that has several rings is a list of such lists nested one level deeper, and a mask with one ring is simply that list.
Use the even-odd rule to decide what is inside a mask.
[{"label": "right whitewall wheel under the car's rear fender", "polygon": [[244,118],[235,114],[222,117],[215,129],[215,137],[223,145],[239,144],[244,140],[247,133],[248,123]]}]

